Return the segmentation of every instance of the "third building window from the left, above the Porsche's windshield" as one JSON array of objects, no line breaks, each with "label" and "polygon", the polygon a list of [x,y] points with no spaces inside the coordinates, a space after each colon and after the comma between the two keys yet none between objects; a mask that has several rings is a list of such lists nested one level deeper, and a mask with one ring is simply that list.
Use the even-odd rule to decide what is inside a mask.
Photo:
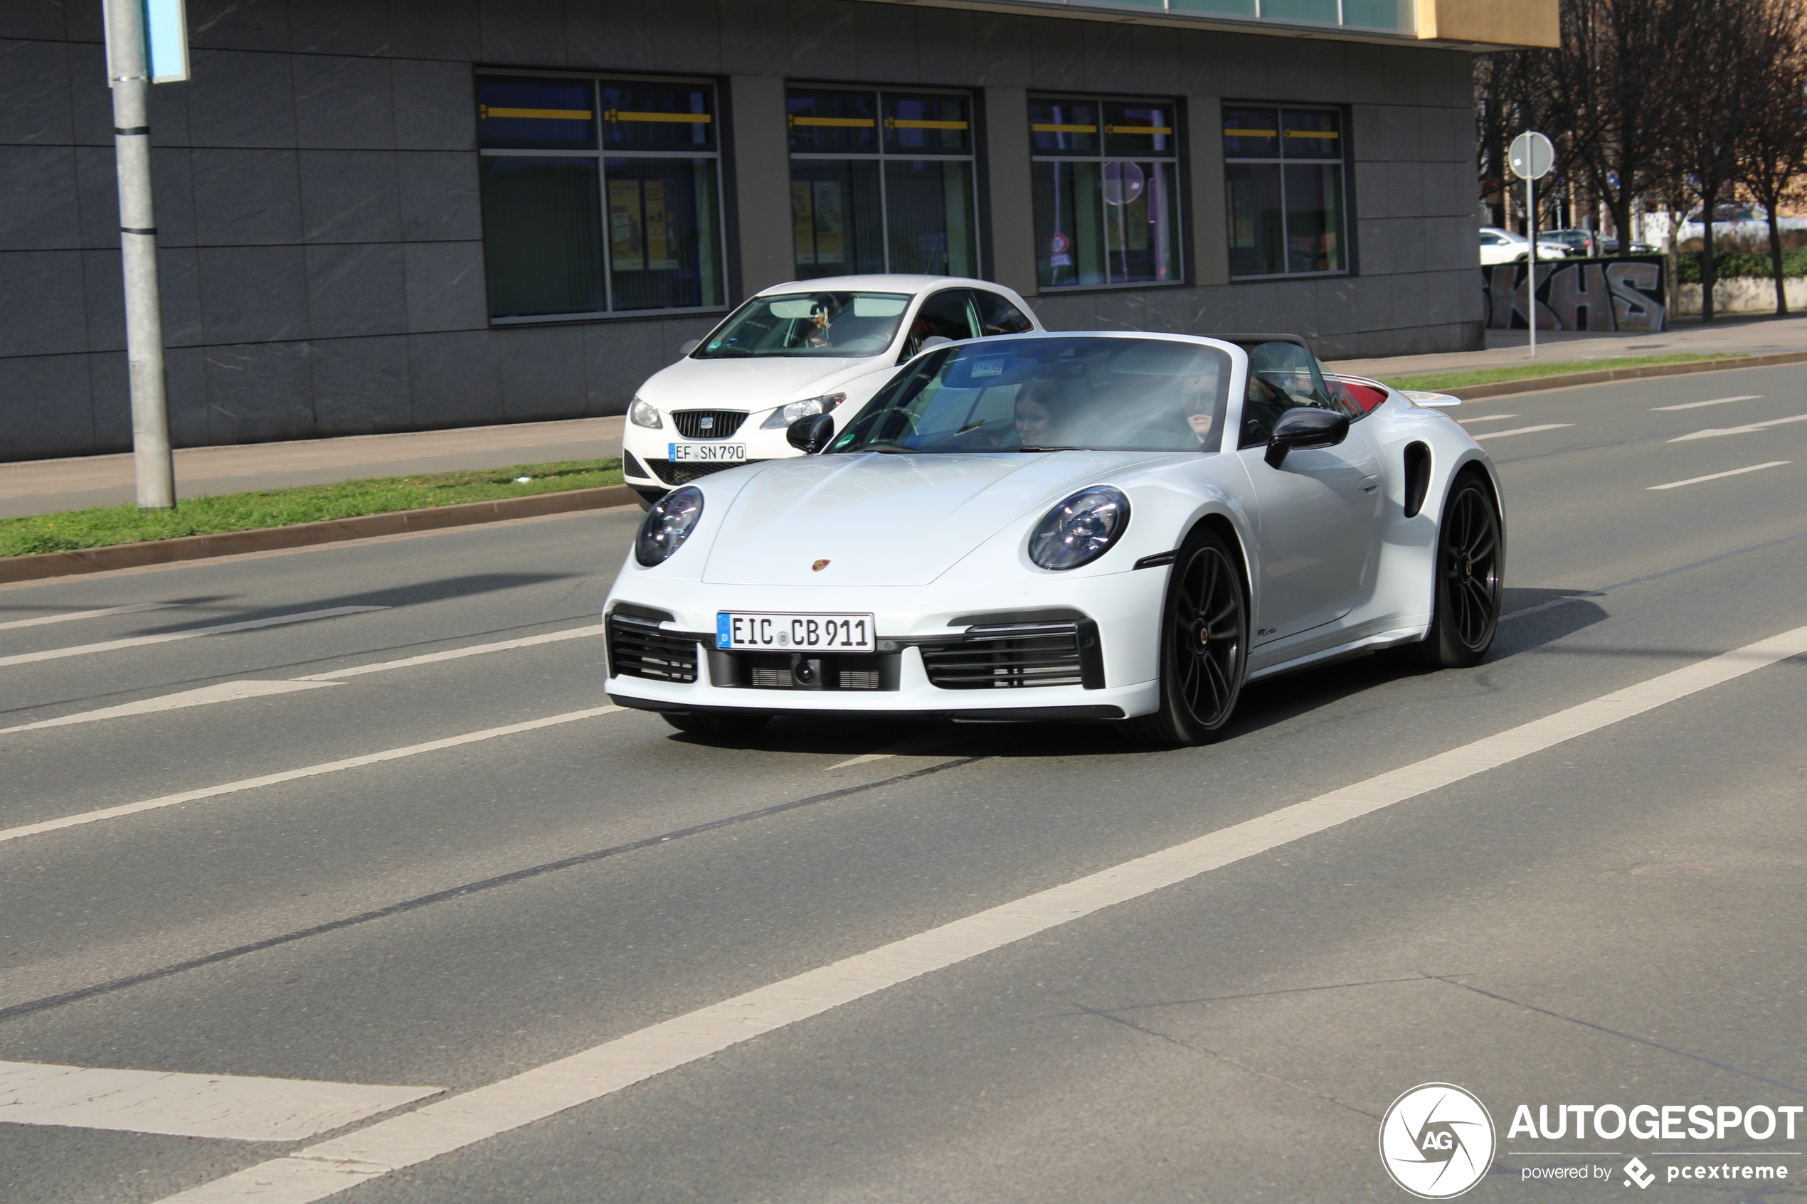
[{"label": "third building window from the left, above the Porsche's windshield", "polygon": [[1043,289],[1180,283],[1173,114],[1171,101],[1030,97]]}]

